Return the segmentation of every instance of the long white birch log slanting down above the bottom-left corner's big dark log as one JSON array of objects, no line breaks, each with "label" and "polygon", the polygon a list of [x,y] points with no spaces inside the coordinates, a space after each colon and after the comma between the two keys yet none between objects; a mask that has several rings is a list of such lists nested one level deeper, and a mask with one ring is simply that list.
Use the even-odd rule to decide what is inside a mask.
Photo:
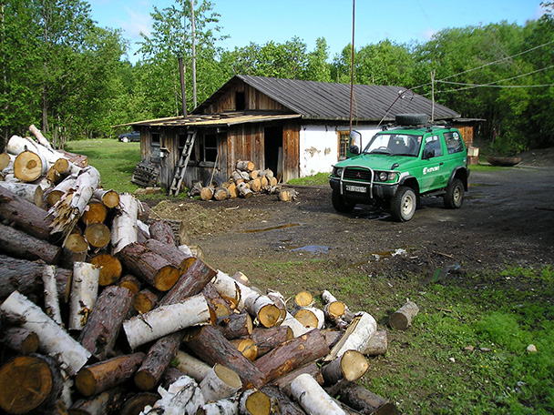
[{"label": "long white birch log slanting down above the bottom-left corner's big dark log", "polygon": [[0,309],[24,319],[22,327],[36,332],[40,349],[58,359],[69,376],[75,375],[87,363],[90,352],[18,291],[5,299]]}]

